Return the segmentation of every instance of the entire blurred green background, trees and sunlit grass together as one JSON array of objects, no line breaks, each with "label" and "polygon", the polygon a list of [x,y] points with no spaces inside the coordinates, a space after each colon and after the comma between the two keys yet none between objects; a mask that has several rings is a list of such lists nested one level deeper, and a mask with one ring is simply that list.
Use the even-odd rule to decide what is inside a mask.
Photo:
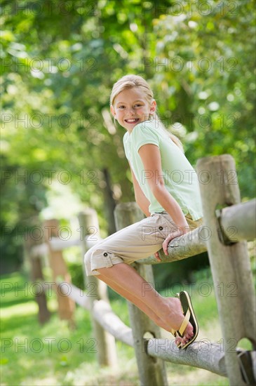
[{"label": "entire blurred green background, trees and sunlit grass together", "polygon": [[[88,350],[90,314],[81,307],[71,330],[58,319],[55,294],[48,294],[52,316],[39,325],[25,290],[25,234],[58,218],[76,237],[76,216],[86,207],[97,211],[101,237],[114,232],[114,206],[134,201],[134,194],[124,129],[112,122],[109,94],[130,73],[149,81],[163,123],[180,136],[193,166],[229,153],[243,201],[255,196],[254,1],[1,0],[0,6],[1,384],[138,385],[134,351],[121,342],[122,366],[114,372],[97,366]],[[254,255],[255,243],[248,246]],[[67,248],[64,257],[73,283],[83,288],[81,251]],[[193,288],[198,339],[221,342],[207,254],[157,265],[154,273],[164,296]],[[51,281],[48,267],[44,274]],[[206,294],[199,291],[205,284]],[[111,290],[109,297],[128,324],[126,302]],[[51,352],[46,337],[54,337]],[[69,352],[57,345],[63,337]],[[31,350],[34,340],[43,350]],[[166,368],[170,384],[228,385],[201,369]]]}]

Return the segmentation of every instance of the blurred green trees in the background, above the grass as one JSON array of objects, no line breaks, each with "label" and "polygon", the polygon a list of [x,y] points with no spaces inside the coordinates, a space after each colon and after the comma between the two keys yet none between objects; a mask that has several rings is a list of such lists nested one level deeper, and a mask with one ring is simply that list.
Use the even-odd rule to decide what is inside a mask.
[{"label": "blurred green trees in the background, above the grass", "polygon": [[[253,1],[11,0],[1,25],[2,273],[20,269],[38,217],[67,224],[95,208],[105,237],[114,206],[134,201],[124,129],[109,114],[124,74],[149,81],[191,164],[229,153],[241,197],[255,195]],[[154,269],[189,280],[207,264],[203,255]]]}]

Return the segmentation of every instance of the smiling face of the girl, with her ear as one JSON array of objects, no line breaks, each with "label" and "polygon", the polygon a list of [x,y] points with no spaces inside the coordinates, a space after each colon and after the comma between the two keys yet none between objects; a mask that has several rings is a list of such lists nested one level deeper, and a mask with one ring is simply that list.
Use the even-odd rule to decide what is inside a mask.
[{"label": "smiling face of the girl, with her ear", "polygon": [[114,106],[111,106],[114,118],[129,133],[133,131],[134,126],[147,121],[149,115],[153,114],[155,110],[156,101],[152,100],[151,105],[149,105],[143,91],[140,91],[140,88],[137,87],[121,91],[116,95]]}]

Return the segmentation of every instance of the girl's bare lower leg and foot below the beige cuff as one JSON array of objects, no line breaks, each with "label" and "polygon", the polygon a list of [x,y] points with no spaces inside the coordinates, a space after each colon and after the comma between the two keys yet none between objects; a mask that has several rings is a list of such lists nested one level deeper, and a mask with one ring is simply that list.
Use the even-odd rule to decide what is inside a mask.
[{"label": "girl's bare lower leg and foot below the beige cuff", "polygon": [[[110,268],[97,269],[102,280],[111,281],[116,285],[115,291],[123,298],[133,302],[151,318],[156,315],[163,321],[167,331],[171,328],[178,330],[184,319],[180,307],[180,300],[177,298],[163,298],[154,288],[151,288],[140,274],[133,267],[126,263],[119,263]],[[142,305],[144,303],[144,305]],[[153,312],[153,314],[152,314]],[[154,320],[154,319],[153,319]],[[187,342],[193,336],[193,327],[189,323],[182,338],[182,343]]]}]

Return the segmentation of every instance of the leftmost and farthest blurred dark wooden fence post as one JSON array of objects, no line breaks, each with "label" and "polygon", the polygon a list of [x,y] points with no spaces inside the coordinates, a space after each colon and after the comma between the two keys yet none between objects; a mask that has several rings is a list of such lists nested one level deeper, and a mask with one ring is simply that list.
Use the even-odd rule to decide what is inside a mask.
[{"label": "leftmost and farthest blurred dark wooden fence post", "polygon": [[[31,249],[35,245],[41,244],[42,241],[38,241],[34,238],[32,238],[32,234],[27,234],[27,240],[25,241],[25,249],[27,251],[27,256],[29,260],[29,265],[31,267],[31,279],[36,284],[38,282],[41,284],[39,291],[36,291],[35,293],[35,300],[37,302],[37,305],[39,307],[39,323],[44,324],[46,321],[50,319],[50,312],[47,307],[47,300],[46,300],[46,293],[44,292],[43,287],[43,269],[42,269],[42,261],[40,256],[33,256],[31,253]],[[33,290],[34,292],[34,290]]]}]

